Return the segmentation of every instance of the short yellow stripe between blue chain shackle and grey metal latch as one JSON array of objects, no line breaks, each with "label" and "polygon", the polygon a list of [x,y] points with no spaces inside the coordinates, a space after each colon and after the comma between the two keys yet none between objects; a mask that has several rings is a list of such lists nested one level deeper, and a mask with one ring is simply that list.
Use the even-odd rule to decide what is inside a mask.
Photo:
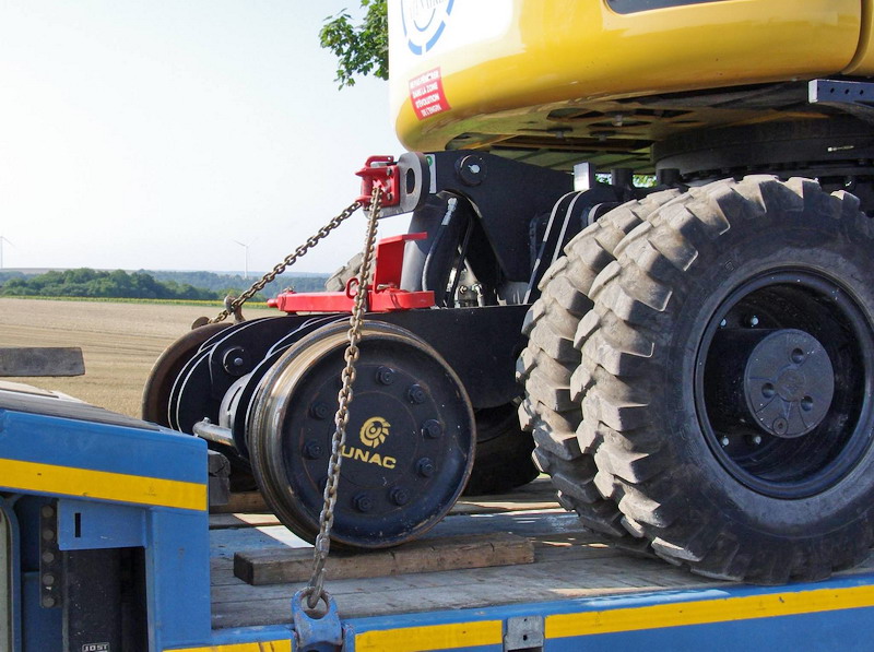
[{"label": "short yellow stripe between blue chain shackle and grey metal latch", "polygon": [[482,620],[365,631],[355,635],[355,652],[461,650],[499,645],[503,640],[504,625],[500,620]]}]

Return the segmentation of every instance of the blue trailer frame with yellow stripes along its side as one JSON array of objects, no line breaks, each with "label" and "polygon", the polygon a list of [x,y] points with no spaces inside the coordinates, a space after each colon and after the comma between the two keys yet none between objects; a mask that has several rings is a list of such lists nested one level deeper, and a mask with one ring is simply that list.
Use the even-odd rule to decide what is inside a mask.
[{"label": "blue trailer frame with yellow stripes along its side", "polygon": [[61,614],[43,606],[45,578],[24,564],[45,535],[39,518],[50,506],[57,509],[60,550],[144,552],[154,652],[330,649],[326,641],[332,638],[356,652],[874,647],[874,574],[866,571],[780,588],[727,585],[329,616],[309,623],[303,641],[296,640],[290,595],[286,623],[213,629],[206,496],[203,441],[83,404],[0,390],[0,562],[5,558],[7,567],[0,568],[0,586],[9,589],[5,606],[0,603],[0,644],[12,652],[62,649]]}]

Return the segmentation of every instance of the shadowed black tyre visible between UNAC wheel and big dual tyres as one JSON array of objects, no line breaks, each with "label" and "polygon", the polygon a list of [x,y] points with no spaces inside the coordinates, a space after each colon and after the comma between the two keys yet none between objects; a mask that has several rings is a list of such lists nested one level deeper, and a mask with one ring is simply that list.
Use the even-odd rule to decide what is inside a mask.
[{"label": "shadowed black tyre visible between UNAC wheel and big dual tyres", "polygon": [[474,410],[476,453],[465,496],[500,494],[538,477],[534,441],[519,427],[516,403]]}]

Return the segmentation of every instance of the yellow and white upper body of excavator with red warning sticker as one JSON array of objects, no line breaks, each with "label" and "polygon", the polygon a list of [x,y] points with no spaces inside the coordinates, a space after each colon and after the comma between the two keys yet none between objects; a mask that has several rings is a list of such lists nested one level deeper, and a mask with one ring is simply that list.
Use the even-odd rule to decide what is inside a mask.
[{"label": "yellow and white upper body of excavator with red warning sticker", "polygon": [[[732,107],[732,88],[873,75],[872,4],[389,0],[395,129],[411,150],[504,147],[544,165],[583,152],[639,167],[683,130],[787,119]],[[708,102],[714,90],[728,100]]]}]

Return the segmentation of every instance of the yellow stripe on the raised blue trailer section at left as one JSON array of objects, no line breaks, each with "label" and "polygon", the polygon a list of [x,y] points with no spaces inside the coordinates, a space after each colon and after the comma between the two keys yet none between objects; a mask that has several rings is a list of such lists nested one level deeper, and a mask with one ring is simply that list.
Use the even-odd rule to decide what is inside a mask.
[{"label": "yellow stripe on the raised blue trailer section at left", "polygon": [[208,499],[206,485],[201,483],[5,459],[0,459],[0,486],[197,511],[206,509]]}]

